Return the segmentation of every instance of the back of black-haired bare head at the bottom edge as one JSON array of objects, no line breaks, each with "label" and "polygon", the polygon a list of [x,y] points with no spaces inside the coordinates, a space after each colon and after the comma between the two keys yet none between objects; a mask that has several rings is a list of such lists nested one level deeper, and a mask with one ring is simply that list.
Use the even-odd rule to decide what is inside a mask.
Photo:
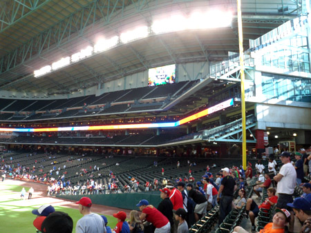
[{"label": "back of black-haired bare head at the bottom edge", "polygon": [[71,233],[73,232],[73,219],[61,211],[55,211],[44,219],[41,225],[44,233]]}]

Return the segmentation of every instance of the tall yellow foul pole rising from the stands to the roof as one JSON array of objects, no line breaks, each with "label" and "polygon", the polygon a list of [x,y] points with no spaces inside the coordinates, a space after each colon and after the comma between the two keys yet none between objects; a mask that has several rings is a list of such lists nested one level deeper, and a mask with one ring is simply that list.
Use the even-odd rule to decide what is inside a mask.
[{"label": "tall yellow foul pole rising from the stands to the roof", "polygon": [[241,108],[242,108],[242,158],[243,169],[246,170],[246,114],[245,114],[245,88],[244,88],[244,53],[243,53],[243,30],[242,30],[242,14],[241,0],[238,3],[238,48],[240,50],[240,66],[241,66]]}]

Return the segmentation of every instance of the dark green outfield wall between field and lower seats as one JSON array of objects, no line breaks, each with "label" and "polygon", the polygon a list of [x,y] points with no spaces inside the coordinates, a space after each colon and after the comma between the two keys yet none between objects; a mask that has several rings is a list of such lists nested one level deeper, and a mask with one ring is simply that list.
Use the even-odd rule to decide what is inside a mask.
[{"label": "dark green outfield wall between field and lower seats", "polygon": [[91,194],[91,195],[57,195],[61,199],[68,199],[72,201],[79,201],[82,196],[88,196],[93,204],[107,205],[111,207],[118,207],[126,210],[139,210],[136,206],[142,199],[149,201],[150,205],[158,207],[162,201],[160,199],[160,192],[135,192],[122,194]]}]

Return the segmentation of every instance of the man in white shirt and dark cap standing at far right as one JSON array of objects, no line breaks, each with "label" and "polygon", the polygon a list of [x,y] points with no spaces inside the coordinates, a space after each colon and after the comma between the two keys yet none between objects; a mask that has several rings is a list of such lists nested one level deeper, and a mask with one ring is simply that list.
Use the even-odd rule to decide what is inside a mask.
[{"label": "man in white shirt and dark cap standing at far right", "polygon": [[290,163],[290,153],[283,152],[281,154],[281,161],[283,166],[276,176],[274,181],[278,182],[277,192],[279,193],[278,203],[276,207],[280,209],[286,209],[291,212],[290,219],[290,232],[294,232],[294,212],[287,203],[292,203],[292,194],[294,194],[294,188],[296,187],[296,170],[292,163]]}]

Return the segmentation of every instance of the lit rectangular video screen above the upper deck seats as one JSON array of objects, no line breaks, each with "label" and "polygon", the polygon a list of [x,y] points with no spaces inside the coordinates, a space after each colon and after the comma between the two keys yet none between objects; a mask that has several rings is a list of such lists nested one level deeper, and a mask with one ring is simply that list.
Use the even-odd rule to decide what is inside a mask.
[{"label": "lit rectangular video screen above the upper deck seats", "polygon": [[148,85],[153,86],[175,83],[175,70],[175,64],[149,69]]}]

